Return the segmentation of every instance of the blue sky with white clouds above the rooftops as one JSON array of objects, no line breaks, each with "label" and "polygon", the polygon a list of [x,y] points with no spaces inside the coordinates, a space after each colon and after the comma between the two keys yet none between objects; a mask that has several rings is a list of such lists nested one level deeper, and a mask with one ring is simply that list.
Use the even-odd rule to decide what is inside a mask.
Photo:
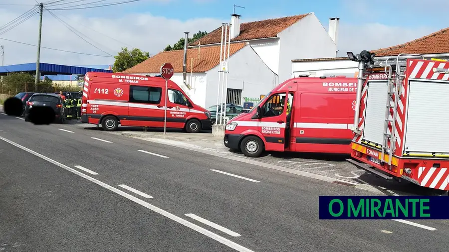
[{"label": "blue sky with white clouds above the rooftops", "polygon": [[185,31],[209,32],[230,22],[234,4],[244,7],[235,7],[241,22],[314,12],[327,29],[328,19],[339,17],[338,56],[394,46],[449,26],[448,0],[136,0],[95,8],[85,7],[129,0],[0,0],[4,65],[36,61],[39,15],[4,25],[40,1],[41,46],[77,52],[42,48],[40,62],[65,65],[112,65],[122,47],[157,54]]}]

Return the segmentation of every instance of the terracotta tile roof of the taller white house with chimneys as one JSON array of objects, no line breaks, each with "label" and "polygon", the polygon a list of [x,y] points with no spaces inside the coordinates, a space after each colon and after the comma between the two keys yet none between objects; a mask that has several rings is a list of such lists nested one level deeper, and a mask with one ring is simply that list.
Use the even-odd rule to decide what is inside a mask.
[{"label": "terracotta tile roof of the taller white house with chimneys", "polygon": [[[279,32],[285,30],[287,27],[309,14],[310,13],[241,23],[240,34],[231,39],[231,42],[276,37]],[[227,34],[229,34],[229,31]],[[208,33],[206,36],[191,42],[189,46],[198,45],[199,42],[201,42],[201,45],[220,43],[222,39],[221,35],[222,27],[220,26],[219,28]]]}]

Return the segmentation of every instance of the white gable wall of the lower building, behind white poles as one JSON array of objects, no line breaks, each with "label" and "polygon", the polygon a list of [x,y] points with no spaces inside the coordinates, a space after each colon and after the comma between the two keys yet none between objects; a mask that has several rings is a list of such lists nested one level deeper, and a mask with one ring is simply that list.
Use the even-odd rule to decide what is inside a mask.
[{"label": "white gable wall of the lower building, behind white poles", "polygon": [[[227,88],[242,89],[242,104],[243,97],[259,98],[260,95],[266,95],[278,83],[277,75],[265,65],[249,45],[229,57],[228,71]],[[218,66],[209,70],[207,75],[206,108],[217,104]]]}]

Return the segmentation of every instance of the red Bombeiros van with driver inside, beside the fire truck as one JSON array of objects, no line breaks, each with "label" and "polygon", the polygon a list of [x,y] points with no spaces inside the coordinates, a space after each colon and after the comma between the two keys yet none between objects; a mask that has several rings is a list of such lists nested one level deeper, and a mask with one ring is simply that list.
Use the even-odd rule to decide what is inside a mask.
[{"label": "red Bombeiros van with driver inside, beside the fire truck", "polygon": [[263,150],[350,154],[356,90],[357,78],[289,79],[226,124],[225,146],[249,157]]}]

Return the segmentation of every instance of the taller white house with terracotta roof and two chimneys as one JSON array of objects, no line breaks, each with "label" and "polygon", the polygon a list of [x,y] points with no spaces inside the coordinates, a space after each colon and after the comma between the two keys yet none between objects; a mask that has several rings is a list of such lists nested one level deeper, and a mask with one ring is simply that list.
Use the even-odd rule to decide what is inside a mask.
[{"label": "taller white house with terracotta roof and two chimneys", "polygon": [[[240,24],[231,15],[231,44],[248,42],[265,64],[279,76],[291,78],[291,59],[335,57],[339,18],[330,18],[329,32],[314,12]],[[190,48],[220,45],[222,28],[190,43]]]}]

